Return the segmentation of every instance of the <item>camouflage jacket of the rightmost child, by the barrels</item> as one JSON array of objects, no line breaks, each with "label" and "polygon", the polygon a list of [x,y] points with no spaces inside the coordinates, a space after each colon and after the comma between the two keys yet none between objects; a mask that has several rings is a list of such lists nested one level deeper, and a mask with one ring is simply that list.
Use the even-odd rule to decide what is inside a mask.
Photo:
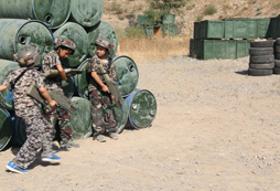
[{"label": "camouflage jacket of the rightmost child, by the barrels", "polygon": [[[111,63],[111,66],[109,68],[109,63]],[[109,59],[106,63],[103,62],[97,55],[93,56],[90,61],[87,63],[87,72],[90,75],[89,84],[88,84],[88,92],[91,92],[96,88],[100,89],[100,86],[95,82],[95,79],[91,76],[91,72],[97,72],[98,64],[103,64],[104,70],[108,71],[108,74],[112,81],[117,79],[117,72],[116,72],[116,65],[112,62],[111,59]]]}]

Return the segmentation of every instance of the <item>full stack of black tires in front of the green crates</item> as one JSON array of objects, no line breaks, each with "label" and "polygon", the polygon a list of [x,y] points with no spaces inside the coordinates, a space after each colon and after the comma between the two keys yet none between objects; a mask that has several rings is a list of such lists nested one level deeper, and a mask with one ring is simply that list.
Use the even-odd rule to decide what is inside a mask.
[{"label": "full stack of black tires in front of the green crates", "polygon": [[[273,40],[250,42],[250,63],[248,74],[251,76],[271,75],[274,68]],[[280,54],[279,54],[280,55]]]}]

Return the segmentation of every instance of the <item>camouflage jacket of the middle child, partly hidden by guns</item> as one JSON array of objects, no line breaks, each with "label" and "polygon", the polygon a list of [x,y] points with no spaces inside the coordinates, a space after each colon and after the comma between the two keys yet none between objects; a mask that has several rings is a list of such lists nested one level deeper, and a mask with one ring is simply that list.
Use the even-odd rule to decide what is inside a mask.
[{"label": "camouflage jacket of the middle child, partly hidden by guns", "polygon": [[[55,50],[47,53],[42,61],[42,72],[45,73],[50,70],[57,68],[56,65],[62,65],[61,59]],[[47,91],[62,91],[62,78],[57,77],[54,79],[45,78],[45,86]]]}]

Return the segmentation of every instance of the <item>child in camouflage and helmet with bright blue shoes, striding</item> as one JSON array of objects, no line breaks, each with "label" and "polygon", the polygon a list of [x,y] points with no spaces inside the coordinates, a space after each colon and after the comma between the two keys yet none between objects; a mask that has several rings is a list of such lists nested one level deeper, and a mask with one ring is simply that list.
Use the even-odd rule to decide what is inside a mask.
[{"label": "child in camouflage and helmet with bright blue shoes, striding", "polygon": [[[20,63],[20,68],[11,72],[0,91],[14,89],[13,102],[15,115],[26,125],[26,141],[19,150],[17,157],[10,161],[7,168],[13,172],[25,173],[28,167],[35,160],[37,152],[43,148],[42,161],[60,161],[60,157],[52,153],[52,131],[51,121],[42,115],[39,104],[26,95],[32,83],[35,82],[41,95],[47,100],[51,107],[57,105],[44,87],[44,77],[33,68],[40,62],[40,51],[35,45],[22,47],[15,55],[15,61]],[[28,70],[26,70],[28,68]]]}]

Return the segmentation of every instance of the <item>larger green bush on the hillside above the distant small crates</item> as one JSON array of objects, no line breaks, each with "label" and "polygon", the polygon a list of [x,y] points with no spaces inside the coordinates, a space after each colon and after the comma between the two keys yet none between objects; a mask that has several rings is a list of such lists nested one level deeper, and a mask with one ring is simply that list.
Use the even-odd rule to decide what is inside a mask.
[{"label": "larger green bush on the hillside above the distant small crates", "polygon": [[162,23],[163,15],[169,13],[182,15],[183,11],[180,8],[186,4],[185,0],[148,0],[148,3],[144,15],[148,17],[149,25]]}]

